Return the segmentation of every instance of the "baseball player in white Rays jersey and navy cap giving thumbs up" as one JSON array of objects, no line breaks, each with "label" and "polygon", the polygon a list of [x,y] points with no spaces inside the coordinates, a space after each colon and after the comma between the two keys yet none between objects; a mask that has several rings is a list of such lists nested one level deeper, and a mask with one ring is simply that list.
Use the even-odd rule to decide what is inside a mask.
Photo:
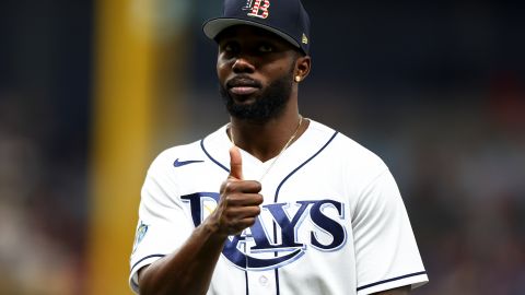
[{"label": "baseball player in white Rays jersey and navy cap giving thumbs up", "polygon": [[428,281],[387,166],[300,115],[300,0],[225,0],[203,25],[230,122],[152,163],[130,285],[140,294],[408,294]]}]

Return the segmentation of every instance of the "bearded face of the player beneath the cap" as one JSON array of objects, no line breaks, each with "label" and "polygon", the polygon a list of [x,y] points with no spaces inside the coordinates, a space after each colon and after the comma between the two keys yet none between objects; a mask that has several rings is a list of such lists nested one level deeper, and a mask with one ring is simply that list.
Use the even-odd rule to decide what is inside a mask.
[{"label": "bearded face of the player beneath the cap", "polygon": [[233,26],[218,37],[220,92],[231,116],[266,121],[290,99],[296,51],[285,40],[253,26]]}]

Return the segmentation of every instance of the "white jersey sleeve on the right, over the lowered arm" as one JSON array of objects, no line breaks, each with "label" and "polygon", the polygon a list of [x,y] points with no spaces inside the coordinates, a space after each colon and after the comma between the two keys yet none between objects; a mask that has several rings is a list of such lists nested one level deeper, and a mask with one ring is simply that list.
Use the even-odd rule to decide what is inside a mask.
[{"label": "white jersey sleeve on the right, over the lowered arm", "polygon": [[352,229],[358,295],[428,282],[399,189],[386,167],[360,192]]}]

